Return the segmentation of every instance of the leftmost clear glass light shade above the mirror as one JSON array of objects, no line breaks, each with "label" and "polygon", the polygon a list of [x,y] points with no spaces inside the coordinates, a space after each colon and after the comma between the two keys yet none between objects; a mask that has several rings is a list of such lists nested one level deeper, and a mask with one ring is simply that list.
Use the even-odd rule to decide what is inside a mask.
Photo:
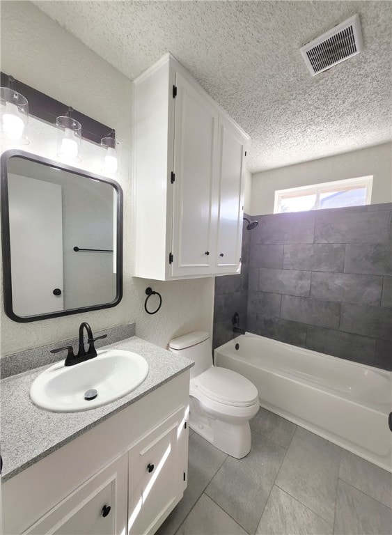
[{"label": "leftmost clear glass light shade above the mirror", "polygon": [[0,132],[2,137],[18,144],[29,144],[27,125],[29,124],[29,102],[11,87],[0,88]]}]

